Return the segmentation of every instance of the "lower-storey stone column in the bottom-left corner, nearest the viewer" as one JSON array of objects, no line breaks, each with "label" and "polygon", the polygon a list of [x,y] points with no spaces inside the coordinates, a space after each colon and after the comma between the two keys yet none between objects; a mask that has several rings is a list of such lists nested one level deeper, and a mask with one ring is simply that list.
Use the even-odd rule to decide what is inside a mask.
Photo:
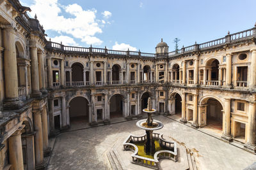
[{"label": "lower-storey stone column in the bottom-left corner, nearest the viewer", "polygon": [[22,155],[22,143],[21,143],[21,130],[20,128],[9,140],[9,159],[10,164],[12,164],[12,169],[23,170],[23,155]]}]

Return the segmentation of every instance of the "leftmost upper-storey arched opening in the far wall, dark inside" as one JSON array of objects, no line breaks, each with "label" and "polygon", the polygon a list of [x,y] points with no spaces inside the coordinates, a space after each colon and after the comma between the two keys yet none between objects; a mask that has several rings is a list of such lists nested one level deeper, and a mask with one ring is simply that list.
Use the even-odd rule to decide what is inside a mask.
[{"label": "leftmost upper-storey arched opening in the far wall, dark inside", "polygon": [[72,64],[72,82],[83,82],[83,71],[84,67],[83,64],[76,62]]}]

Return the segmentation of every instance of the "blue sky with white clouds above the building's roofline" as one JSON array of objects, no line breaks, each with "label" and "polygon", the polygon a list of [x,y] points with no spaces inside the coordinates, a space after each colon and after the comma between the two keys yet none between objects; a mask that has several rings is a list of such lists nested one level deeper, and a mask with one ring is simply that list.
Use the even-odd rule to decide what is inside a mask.
[{"label": "blue sky with white clouds above the building's roofline", "polygon": [[255,0],[21,0],[44,26],[47,39],[67,46],[169,51],[251,29]]}]

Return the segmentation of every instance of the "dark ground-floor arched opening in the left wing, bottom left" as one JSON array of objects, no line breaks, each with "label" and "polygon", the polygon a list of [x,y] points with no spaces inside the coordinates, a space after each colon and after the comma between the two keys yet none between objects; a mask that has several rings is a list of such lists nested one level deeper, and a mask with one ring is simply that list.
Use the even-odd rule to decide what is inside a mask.
[{"label": "dark ground-floor arched opening in the left wing, bottom left", "polygon": [[24,129],[22,129],[22,157],[23,157],[23,165],[24,169],[34,169],[34,150],[31,149],[34,146],[33,133],[31,125],[28,121],[24,121],[23,125],[25,125]]}]

